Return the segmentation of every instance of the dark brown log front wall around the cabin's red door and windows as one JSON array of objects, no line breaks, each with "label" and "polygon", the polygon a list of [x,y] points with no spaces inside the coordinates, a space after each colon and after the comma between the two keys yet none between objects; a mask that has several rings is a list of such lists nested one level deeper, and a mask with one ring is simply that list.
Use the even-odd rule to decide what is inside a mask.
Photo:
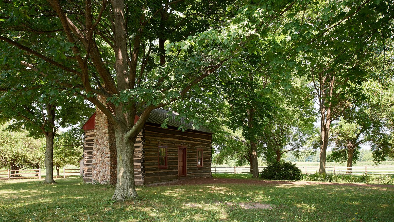
[{"label": "dark brown log front wall around the cabin's red door and windows", "polygon": [[[212,177],[212,134],[146,123],[143,148],[144,184],[178,179],[178,147],[186,147],[186,176]],[[167,146],[167,168],[158,167],[158,146]],[[197,149],[203,149],[203,167],[197,167]]]}]

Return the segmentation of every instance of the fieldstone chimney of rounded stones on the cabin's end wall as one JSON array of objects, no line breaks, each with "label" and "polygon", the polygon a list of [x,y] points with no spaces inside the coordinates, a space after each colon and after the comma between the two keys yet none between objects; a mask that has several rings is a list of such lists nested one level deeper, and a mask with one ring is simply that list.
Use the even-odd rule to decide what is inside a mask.
[{"label": "fieldstone chimney of rounded stones on the cabin's end wall", "polygon": [[95,136],[92,158],[92,181],[115,184],[117,176],[116,143],[113,125],[96,108]]}]

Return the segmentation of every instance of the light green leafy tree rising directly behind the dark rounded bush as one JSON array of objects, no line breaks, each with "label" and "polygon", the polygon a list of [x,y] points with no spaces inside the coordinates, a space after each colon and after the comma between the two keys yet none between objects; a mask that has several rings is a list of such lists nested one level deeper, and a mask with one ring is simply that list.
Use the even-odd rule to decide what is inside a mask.
[{"label": "light green leafy tree rising directly behind the dark rounded bush", "polygon": [[295,153],[308,149],[307,143],[315,133],[316,121],[310,89],[305,80],[296,79],[292,88],[282,92],[273,92],[272,97],[278,112],[273,115],[259,138],[260,147],[268,162],[275,153],[280,162],[285,153]]}]

